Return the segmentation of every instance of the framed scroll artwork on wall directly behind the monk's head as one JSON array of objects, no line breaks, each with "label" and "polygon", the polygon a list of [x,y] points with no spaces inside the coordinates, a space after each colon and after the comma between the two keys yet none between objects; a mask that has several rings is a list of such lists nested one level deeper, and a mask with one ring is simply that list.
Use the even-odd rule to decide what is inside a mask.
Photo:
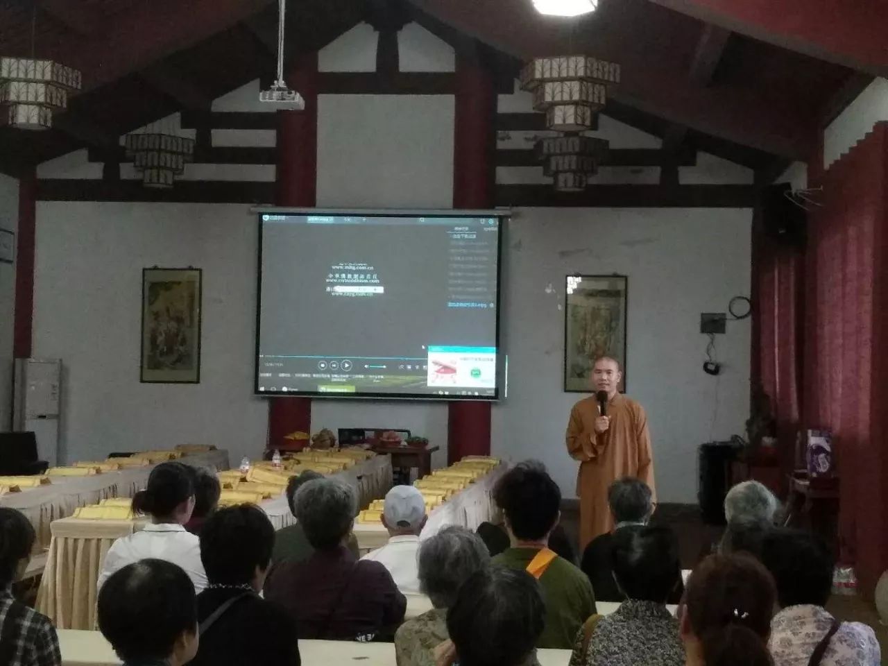
[{"label": "framed scroll artwork on wall directly behind the monk's head", "polygon": [[601,356],[620,361],[626,390],[625,275],[567,275],[564,308],[564,390],[592,392],[592,365]]}]

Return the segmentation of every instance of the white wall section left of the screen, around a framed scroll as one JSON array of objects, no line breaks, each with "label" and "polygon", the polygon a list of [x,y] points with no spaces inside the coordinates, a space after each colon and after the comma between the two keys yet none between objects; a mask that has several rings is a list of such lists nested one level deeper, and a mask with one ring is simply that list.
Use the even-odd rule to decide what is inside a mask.
[{"label": "white wall section left of the screen, around a framed scroll", "polygon": [[[207,442],[265,448],[252,397],[257,222],[234,205],[40,202],[34,353],[64,363],[60,457]],[[203,269],[201,383],[139,383],[142,268]]]}]

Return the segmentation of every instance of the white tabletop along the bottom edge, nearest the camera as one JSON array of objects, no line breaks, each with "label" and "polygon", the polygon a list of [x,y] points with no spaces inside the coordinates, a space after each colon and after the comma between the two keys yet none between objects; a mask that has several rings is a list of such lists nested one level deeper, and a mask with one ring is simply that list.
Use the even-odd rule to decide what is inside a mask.
[{"label": "white tabletop along the bottom edge, nearest the camera", "polygon": [[[59,630],[62,666],[120,666],[120,660],[107,640],[98,631]],[[299,654],[303,663],[344,664],[361,662],[361,666],[394,666],[392,643],[351,643],[337,640],[300,640]],[[542,666],[567,666],[570,650],[539,650]]]}]

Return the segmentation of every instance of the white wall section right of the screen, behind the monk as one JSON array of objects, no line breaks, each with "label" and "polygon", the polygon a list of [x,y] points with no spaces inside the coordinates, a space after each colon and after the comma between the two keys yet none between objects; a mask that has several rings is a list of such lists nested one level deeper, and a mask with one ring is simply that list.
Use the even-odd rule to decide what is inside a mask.
[{"label": "white wall section right of the screen, behind the monk", "polygon": [[509,396],[494,408],[493,451],[542,460],[565,496],[576,464],[564,430],[567,274],[629,276],[628,394],[646,408],[661,502],[693,503],[696,448],[742,432],[749,416],[749,321],[718,336],[719,377],[702,371],[700,313],[749,295],[750,210],[519,209],[508,233],[502,329]]}]

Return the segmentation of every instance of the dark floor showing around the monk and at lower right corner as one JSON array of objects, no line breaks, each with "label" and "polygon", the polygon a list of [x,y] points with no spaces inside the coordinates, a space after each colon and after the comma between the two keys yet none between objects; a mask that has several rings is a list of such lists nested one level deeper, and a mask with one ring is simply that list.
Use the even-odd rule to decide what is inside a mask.
[{"label": "dark floor showing around the monk and at lower right corner", "polygon": [[[709,551],[718,541],[722,527],[704,525],[699,509],[691,504],[671,504],[657,509],[652,524],[672,527],[678,535],[681,550],[681,566],[693,569],[702,553]],[[564,507],[561,524],[574,543],[579,543],[579,512],[575,507]],[[876,607],[860,597],[833,597],[827,605],[829,612],[844,622],[863,622],[876,630],[882,646],[882,663],[888,666],[888,626],[879,622]]]}]

